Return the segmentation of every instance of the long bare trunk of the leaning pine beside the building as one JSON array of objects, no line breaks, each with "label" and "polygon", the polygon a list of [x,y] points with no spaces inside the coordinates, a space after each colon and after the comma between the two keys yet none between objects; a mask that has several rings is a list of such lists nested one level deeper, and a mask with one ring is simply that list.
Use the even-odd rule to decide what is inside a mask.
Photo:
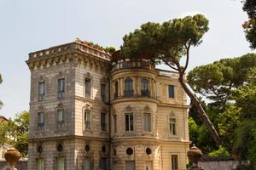
[{"label": "long bare trunk of the leaning pine beside the building", "polygon": [[200,114],[202,121],[205,123],[207,128],[210,130],[212,137],[216,143],[217,146],[221,144],[221,139],[218,135],[217,130],[213,126],[211,120],[207,116],[207,113],[204,111],[203,107],[201,106],[200,101],[196,98],[196,96],[190,91],[190,89],[187,87],[185,82],[183,82],[183,75],[180,75],[178,78],[178,81],[181,83],[183,90],[185,91],[186,94],[189,95],[189,98],[191,99],[191,102],[193,105],[195,105],[195,108],[197,109],[198,113]]}]

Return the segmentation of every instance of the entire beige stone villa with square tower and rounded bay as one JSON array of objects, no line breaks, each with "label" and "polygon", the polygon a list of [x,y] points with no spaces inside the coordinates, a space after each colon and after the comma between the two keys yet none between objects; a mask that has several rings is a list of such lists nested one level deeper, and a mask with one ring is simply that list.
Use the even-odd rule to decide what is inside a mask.
[{"label": "entire beige stone villa with square tower and rounded bay", "polygon": [[186,169],[189,105],[177,73],[80,40],[26,63],[28,170]]}]

